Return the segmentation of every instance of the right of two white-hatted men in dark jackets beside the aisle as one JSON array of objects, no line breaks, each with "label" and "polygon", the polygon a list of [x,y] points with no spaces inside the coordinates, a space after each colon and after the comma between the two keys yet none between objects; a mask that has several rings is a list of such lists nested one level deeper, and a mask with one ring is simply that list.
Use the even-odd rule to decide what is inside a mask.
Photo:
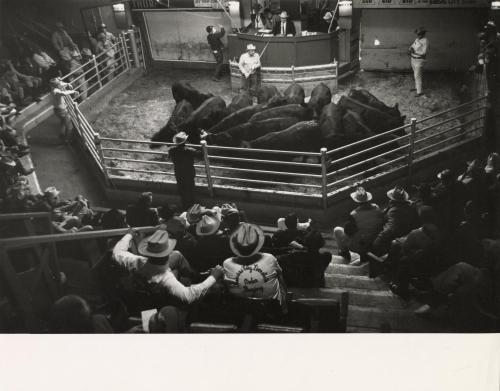
[{"label": "right of two white-hatted men in dark jackets beside the aisle", "polygon": [[389,206],[384,211],[384,225],[373,242],[373,250],[377,255],[386,254],[394,239],[407,235],[418,226],[417,212],[410,204],[410,196],[401,186],[389,190],[387,197]]}]

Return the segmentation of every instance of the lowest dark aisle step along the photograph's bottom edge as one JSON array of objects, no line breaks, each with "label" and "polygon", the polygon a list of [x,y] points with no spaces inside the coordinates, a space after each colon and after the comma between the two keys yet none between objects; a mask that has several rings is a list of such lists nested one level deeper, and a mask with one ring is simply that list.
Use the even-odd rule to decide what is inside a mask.
[{"label": "lowest dark aisle step along the photograph's bottom edge", "polygon": [[418,317],[413,313],[413,310],[413,306],[406,310],[398,310],[350,305],[347,326],[380,329],[382,325],[387,325],[392,332],[436,333],[447,331],[444,325]]}]

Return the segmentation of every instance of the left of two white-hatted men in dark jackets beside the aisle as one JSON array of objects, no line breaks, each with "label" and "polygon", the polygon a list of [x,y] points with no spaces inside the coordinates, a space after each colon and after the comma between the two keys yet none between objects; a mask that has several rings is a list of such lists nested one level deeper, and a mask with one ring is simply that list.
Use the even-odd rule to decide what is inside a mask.
[{"label": "left of two white-hatted men in dark jackets beside the aisle", "polygon": [[384,222],[379,206],[370,202],[373,198],[370,192],[359,186],[351,193],[351,198],[357,207],[349,214],[346,226],[333,229],[339,255],[348,261],[351,260],[351,250],[366,254]]}]

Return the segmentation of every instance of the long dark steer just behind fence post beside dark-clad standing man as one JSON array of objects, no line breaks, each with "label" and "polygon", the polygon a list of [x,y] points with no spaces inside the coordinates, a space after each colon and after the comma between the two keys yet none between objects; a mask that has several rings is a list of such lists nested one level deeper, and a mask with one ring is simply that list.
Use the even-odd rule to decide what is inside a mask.
[{"label": "long dark steer just behind fence post beside dark-clad standing man", "polygon": [[268,133],[279,132],[297,123],[294,117],[270,118],[257,122],[246,122],[225,132],[209,135],[210,144],[238,147],[242,141],[251,141]]}]

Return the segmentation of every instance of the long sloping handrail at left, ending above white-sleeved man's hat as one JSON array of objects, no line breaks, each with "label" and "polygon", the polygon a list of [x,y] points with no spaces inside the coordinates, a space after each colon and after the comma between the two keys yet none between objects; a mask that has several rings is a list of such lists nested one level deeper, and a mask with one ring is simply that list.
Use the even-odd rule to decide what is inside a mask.
[{"label": "long sloping handrail at left, ending above white-sleeved man's hat", "polygon": [[[157,227],[137,227],[134,228],[137,232],[151,232]],[[86,231],[86,232],[71,232],[71,233],[60,233],[60,234],[49,234],[49,235],[32,235],[32,236],[22,236],[17,238],[0,239],[0,247],[7,249],[19,248],[30,246],[33,244],[49,243],[49,242],[68,242],[71,240],[86,240],[86,239],[97,239],[97,238],[109,238],[114,236],[125,235],[130,232],[130,228],[119,228],[119,229],[108,229],[100,231]]]}]

